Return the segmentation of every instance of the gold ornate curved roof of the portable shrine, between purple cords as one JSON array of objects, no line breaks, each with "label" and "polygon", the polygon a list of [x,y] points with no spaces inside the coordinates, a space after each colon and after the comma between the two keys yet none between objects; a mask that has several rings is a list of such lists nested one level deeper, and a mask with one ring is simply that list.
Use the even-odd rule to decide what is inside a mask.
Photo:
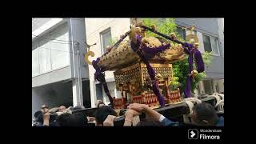
[{"label": "gold ornate curved roof of the portable shrine, between purple cords", "polygon": [[[142,38],[142,42],[152,49],[157,49],[158,46],[166,45],[166,42],[160,42],[158,38],[146,37]],[[154,58],[150,58],[151,63],[171,63],[185,58],[184,50],[180,45],[171,44],[170,48],[156,54]],[[119,70],[127,66],[134,65],[140,62],[138,54],[136,54],[130,47],[128,40],[122,41],[118,47],[114,47],[106,55],[102,55],[98,66],[105,70]]]}]

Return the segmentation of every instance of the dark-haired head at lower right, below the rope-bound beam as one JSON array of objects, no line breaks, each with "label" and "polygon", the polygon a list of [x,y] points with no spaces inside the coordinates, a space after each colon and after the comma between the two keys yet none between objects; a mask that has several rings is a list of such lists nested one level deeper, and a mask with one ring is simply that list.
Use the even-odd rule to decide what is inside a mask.
[{"label": "dark-haired head at lower right, below the rope-bound beam", "polygon": [[192,120],[198,126],[216,126],[218,123],[218,115],[214,106],[209,103],[202,102],[193,107]]}]

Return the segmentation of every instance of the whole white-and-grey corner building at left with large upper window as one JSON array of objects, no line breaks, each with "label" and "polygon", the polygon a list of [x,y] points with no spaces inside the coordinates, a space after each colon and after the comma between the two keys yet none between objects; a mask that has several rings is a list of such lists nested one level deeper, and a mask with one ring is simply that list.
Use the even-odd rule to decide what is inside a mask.
[{"label": "whole white-and-grey corner building at left with large upper window", "polygon": [[90,103],[85,42],[84,18],[32,18],[32,118],[42,105]]}]

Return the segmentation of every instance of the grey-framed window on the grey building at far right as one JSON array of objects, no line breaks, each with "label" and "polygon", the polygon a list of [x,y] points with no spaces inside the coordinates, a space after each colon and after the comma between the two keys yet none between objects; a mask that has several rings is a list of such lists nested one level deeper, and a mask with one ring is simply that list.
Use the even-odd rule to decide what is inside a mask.
[{"label": "grey-framed window on the grey building at far right", "polygon": [[202,34],[203,45],[205,51],[212,52],[213,54],[219,55],[218,50],[218,38]]}]

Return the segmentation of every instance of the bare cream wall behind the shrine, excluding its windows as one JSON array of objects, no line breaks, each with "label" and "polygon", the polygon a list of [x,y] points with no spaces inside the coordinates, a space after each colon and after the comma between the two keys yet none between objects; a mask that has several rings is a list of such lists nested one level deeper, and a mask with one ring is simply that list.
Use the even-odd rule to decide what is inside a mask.
[{"label": "bare cream wall behind the shrine, excluding its windows", "polygon": [[[111,29],[112,38],[119,38],[121,34],[130,30],[130,18],[86,18],[86,40],[89,45],[97,43],[96,46],[91,46],[90,50],[94,51],[94,58],[89,58],[90,61],[102,56],[102,44],[100,33],[107,28]],[[96,98],[96,86],[94,81],[94,67],[89,66],[90,75],[90,94],[91,106],[94,107]],[[107,71],[106,81],[113,81],[113,72]]]}]

